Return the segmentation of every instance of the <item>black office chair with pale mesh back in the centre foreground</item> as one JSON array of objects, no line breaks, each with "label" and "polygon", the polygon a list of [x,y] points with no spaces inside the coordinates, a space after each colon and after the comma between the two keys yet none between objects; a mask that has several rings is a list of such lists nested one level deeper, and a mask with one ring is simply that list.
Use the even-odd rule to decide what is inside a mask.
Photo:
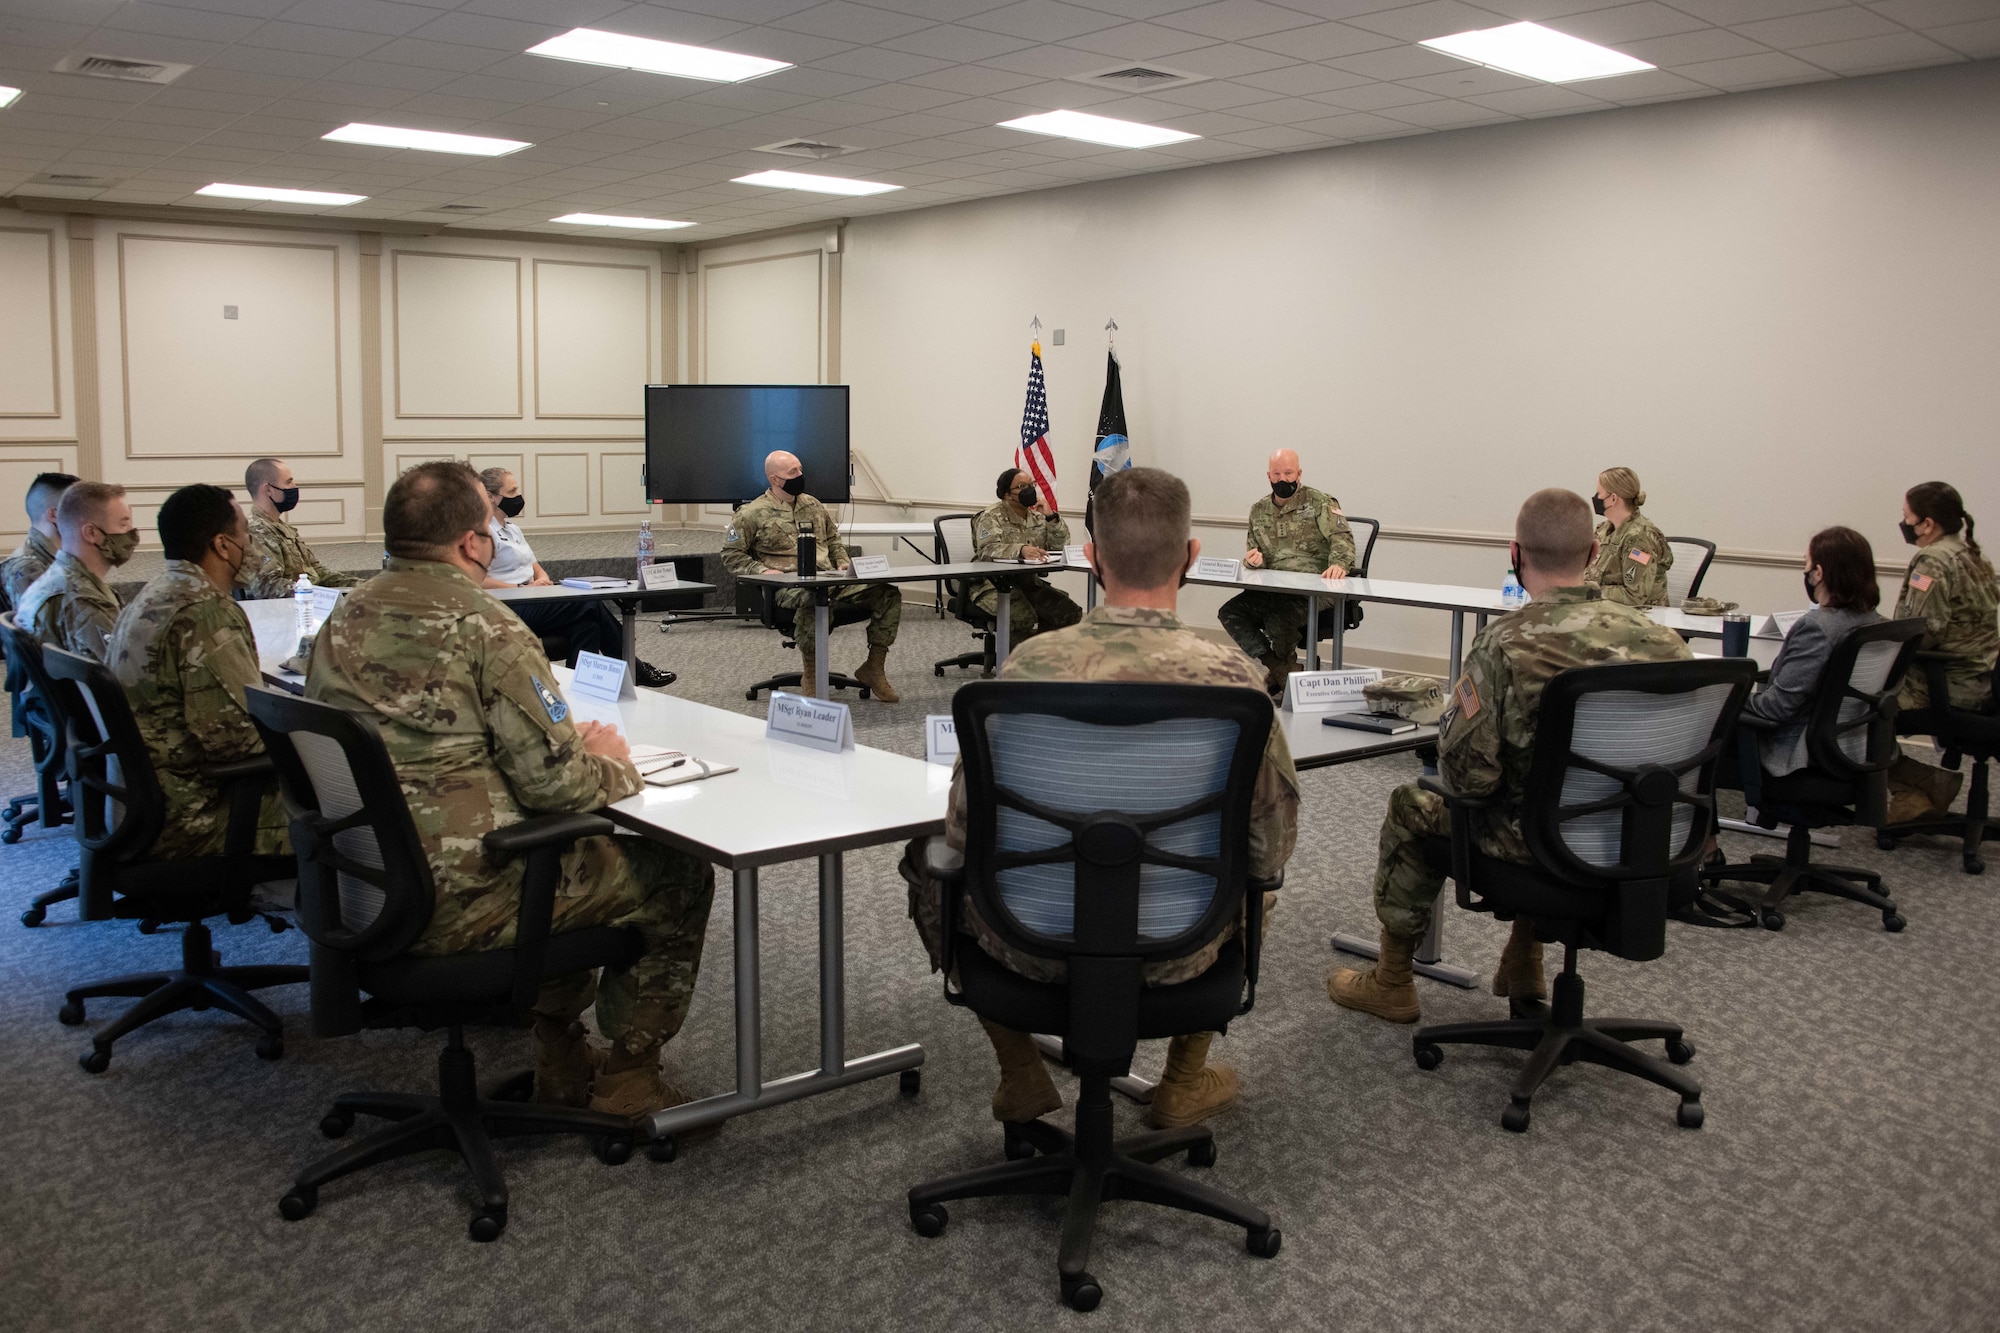
[{"label": "black office chair with pale mesh back in the centre foreground", "polygon": [[[952,699],[952,717],[968,823],[964,865],[940,871],[944,997],[1022,1033],[1060,1035],[1082,1087],[1074,1137],[1040,1121],[1008,1125],[1008,1161],[918,1185],[910,1223],[936,1237],[950,1199],[1068,1197],[1058,1273],[1076,1309],[1104,1295],[1084,1265],[1106,1199],[1220,1217],[1244,1229],[1252,1255],[1276,1255],[1280,1233],[1262,1209],[1152,1165],[1176,1153],[1212,1165],[1206,1127],[1114,1141],[1110,1103],[1110,1081],[1130,1073],[1140,1039],[1224,1031],[1256,999],[1274,885],[1250,883],[1246,861],[1270,701],[1220,687],[974,681]],[[1068,981],[1028,981],[968,943],[964,893],[1012,949],[1062,959]],[[1232,933],[1246,911],[1248,929]],[[1224,933],[1200,977],[1142,983],[1146,963]]]}]

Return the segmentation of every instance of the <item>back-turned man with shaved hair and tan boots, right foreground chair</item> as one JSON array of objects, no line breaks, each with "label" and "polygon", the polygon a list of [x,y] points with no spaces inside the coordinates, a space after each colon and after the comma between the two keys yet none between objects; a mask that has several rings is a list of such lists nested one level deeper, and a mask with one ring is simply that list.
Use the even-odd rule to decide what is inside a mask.
[{"label": "back-turned man with shaved hair and tan boots, right foreground chair", "polygon": [[[1474,837],[1488,857],[1528,863],[1520,801],[1534,757],[1542,687],[1572,666],[1692,656],[1688,644],[1646,618],[1644,608],[1598,600],[1596,590],[1584,586],[1584,570],[1596,550],[1584,496],[1560,488],[1528,496],[1514,518],[1508,556],[1532,600],[1478,632],[1438,723],[1438,771],[1444,781],[1468,797],[1502,799],[1498,809],[1474,815]],[[1390,1023],[1416,1023],[1410,955],[1430,929],[1432,905],[1444,889],[1450,835],[1450,811],[1440,797],[1416,783],[1388,795],[1374,885],[1382,959],[1368,971],[1330,973],[1326,995],[1336,1005]],[[1542,945],[1524,919],[1514,921],[1514,935],[1500,953],[1494,995],[1548,999]]]}]

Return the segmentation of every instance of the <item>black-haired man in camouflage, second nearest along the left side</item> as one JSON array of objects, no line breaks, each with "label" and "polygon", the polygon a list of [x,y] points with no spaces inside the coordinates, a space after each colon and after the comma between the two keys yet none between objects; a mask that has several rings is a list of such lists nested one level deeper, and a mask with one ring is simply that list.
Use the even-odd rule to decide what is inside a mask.
[{"label": "black-haired man in camouflage, second nearest along the left side", "polygon": [[[154,855],[212,857],[230,829],[230,801],[202,767],[264,753],[244,705],[244,691],[262,683],[256,638],[230,598],[250,528],[222,486],[182,486],[160,506],[158,530],[166,572],[118,614],[106,664],[124,685],[166,793]],[[286,813],[274,785],[256,851],[284,849]]]}]

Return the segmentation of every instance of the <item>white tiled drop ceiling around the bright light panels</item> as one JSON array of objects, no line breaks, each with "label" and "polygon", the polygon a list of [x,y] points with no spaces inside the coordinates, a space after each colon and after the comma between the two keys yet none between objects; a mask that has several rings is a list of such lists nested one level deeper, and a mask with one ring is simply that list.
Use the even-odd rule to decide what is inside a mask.
[{"label": "white tiled drop ceiling around the bright light panels", "polygon": [[[1416,46],[1536,20],[1658,68],[1544,84]],[[712,84],[524,54],[570,28],[796,68]],[[192,66],[168,86],[72,56]],[[2000,0],[0,0],[0,194],[196,206],[210,182],[366,194],[258,212],[702,242],[1198,162],[2000,54]],[[1088,76],[1194,76],[1148,94]],[[1118,150],[996,128],[1090,110],[1198,134]],[[374,124],[530,140],[500,158],[322,142]],[[826,160],[760,150],[812,140]],[[902,186],[734,184],[808,170]],[[80,180],[62,180],[62,178]],[[566,212],[696,222],[552,224]]]}]

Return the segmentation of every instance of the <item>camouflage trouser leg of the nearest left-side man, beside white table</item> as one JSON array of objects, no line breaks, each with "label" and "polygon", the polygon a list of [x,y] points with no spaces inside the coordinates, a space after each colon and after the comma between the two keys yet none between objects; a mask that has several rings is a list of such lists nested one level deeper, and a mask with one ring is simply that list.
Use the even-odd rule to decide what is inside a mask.
[{"label": "camouflage trouser leg of the nearest left-side man, beside white table", "polygon": [[646,951],[630,967],[542,983],[534,1011],[574,1019],[598,1007],[598,1031],[624,1055],[644,1055],[680,1031],[702,971],[714,867],[646,839],[584,839],[562,857],[554,931],[632,927]]}]

